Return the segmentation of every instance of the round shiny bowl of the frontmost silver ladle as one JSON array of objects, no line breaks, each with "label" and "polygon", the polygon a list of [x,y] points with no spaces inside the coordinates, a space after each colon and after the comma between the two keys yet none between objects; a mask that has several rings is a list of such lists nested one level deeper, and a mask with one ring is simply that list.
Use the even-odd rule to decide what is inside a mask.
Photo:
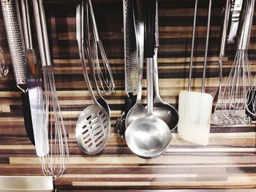
[{"label": "round shiny bowl of the frontmost silver ladle", "polygon": [[125,139],[129,149],[141,158],[157,158],[167,150],[172,134],[163,120],[146,115],[129,125]]}]

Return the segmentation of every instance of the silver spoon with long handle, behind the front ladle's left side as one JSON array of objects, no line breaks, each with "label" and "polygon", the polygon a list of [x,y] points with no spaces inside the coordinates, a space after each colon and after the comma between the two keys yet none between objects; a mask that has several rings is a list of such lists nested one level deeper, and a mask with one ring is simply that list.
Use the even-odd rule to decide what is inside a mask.
[{"label": "silver spoon with long handle, behind the front ladle's left side", "polygon": [[137,99],[135,105],[127,113],[125,119],[125,127],[127,128],[132,121],[143,117],[147,114],[146,108],[140,103],[142,94],[143,80],[143,52],[144,52],[144,23],[143,23],[143,8],[140,0],[132,1],[134,5],[135,18],[135,37],[138,50],[138,84],[137,84]]}]

